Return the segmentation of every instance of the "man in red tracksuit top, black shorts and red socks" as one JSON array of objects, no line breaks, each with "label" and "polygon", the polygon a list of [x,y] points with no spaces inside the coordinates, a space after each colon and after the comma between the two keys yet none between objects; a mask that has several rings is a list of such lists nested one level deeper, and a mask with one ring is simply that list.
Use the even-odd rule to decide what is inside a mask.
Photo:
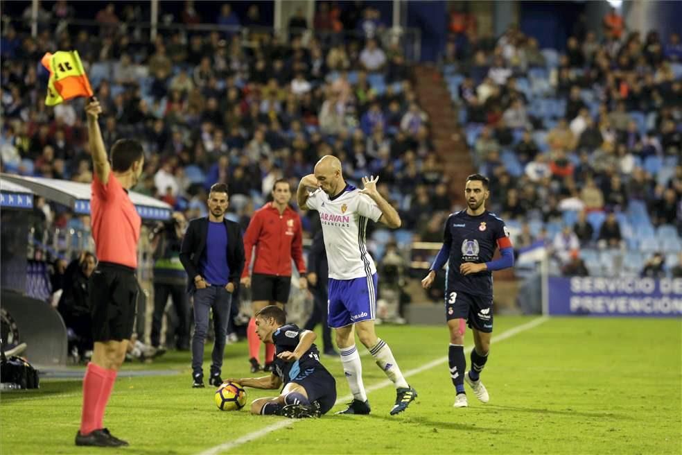
[{"label": "man in red tracksuit top, black shorts and red socks", "polygon": [[[283,308],[289,300],[291,287],[291,259],[299,271],[299,287],[305,289],[306,264],[303,261],[301,217],[289,207],[291,188],[285,179],[277,180],[272,187],[272,202],[256,210],[244,234],[246,267],[241,283],[250,287],[254,314],[268,305]],[[252,248],[256,246],[256,259],[249,277]],[[247,329],[251,371],[261,370],[259,351],[261,340],[256,335],[256,320],[251,318]],[[274,345],[265,345],[265,371],[272,370]]]}]

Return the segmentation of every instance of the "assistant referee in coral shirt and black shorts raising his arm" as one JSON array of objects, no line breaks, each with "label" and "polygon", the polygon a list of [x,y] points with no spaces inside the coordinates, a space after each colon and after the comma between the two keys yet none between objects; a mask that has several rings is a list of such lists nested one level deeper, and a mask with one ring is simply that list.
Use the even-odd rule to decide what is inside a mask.
[{"label": "assistant referee in coral shirt and black shorts raising his arm", "polygon": [[116,372],[125,359],[132,335],[139,285],[137,241],[141,218],[128,196],[139,180],[144,153],[138,141],[119,139],[112,146],[111,164],[97,118],[100,103],[85,107],[94,175],[92,178],[92,237],[99,264],[90,277],[90,312],[94,352],[83,379],[83,407],[76,445],[128,445],[103,425],[104,411],[114,388]]}]

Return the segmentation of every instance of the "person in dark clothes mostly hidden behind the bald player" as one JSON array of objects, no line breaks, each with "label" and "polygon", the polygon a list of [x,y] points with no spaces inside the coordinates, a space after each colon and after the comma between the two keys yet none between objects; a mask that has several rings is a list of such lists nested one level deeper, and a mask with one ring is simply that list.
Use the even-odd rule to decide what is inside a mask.
[{"label": "person in dark clothes mostly hidden behind the bald player", "polygon": [[327,280],[329,280],[329,265],[326,259],[324,248],[324,237],[322,229],[317,231],[313,237],[311,250],[308,252],[308,283],[313,291],[313,314],[308,319],[304,329],[314,330],[315,325],[322,323],[322,343],[324,344],[324,354],[338,356],[331,343],[331,329],[327,324]]}]

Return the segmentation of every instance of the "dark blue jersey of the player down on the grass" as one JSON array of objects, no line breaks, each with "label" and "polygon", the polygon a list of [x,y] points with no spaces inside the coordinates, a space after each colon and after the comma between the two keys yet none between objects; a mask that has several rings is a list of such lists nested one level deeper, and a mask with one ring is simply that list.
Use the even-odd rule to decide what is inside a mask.
[{"label": "dark blue jersey of the player down on the grass", "polygon": [[315,344],[311,345],[310,349],[304,352],[301,358],[295,362],[286,362],[277,357],[277,354],[280,352],[293,352],[296,349],[301,332],[303,332],[303,330],[299,329],[297,325],[287,324],[279,327],[279,329],[272,334],[272,339],[276,348],[274,374],[282,379],[284,385],[291,381],[303,381],[306,377],[313,375],[315,372],[326,372],[331,376],[326,368],[322,366],[322,363],[320,363],[320,351],[317,350]]}]

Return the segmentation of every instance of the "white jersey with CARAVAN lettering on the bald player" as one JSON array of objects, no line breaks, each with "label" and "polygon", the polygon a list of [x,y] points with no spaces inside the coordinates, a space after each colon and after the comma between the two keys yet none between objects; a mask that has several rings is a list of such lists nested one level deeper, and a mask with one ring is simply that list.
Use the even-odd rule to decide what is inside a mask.
[{"label": "white jersey with CARAVAN lettering on the bald player", "polygon": [[365,243],[368,219],[376,222],[381,217],[374,200],[347,184],[333,199],[317,189],[308,196],[306,205],[320,213],[330,278],[354,280],[376,273]]}]

